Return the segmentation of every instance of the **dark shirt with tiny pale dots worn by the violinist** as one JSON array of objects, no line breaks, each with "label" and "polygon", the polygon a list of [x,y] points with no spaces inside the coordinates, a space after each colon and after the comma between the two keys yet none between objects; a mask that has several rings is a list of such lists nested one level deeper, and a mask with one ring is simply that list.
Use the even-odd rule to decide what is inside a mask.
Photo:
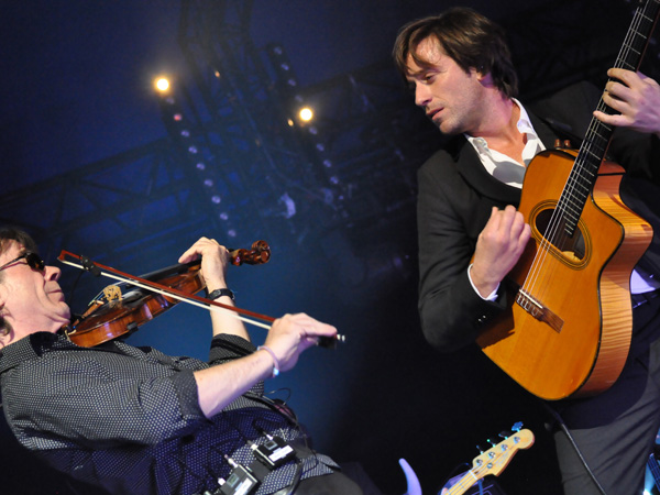
[{"label": "dark shirt with tiny pale dots worn by the violinist", "polygon": [[[0,352],[2,404],[19,441],[57,470],[120,494],[188,495],[218,488],[229,455],[255,461],[250,442],[268,431],[294,444],[305,436],[295,419],[263,396],[263,382],[212,419],[199,408],[194,371],[251,352],[244,339],[212,340],[209,363],[151,348],[109,342],[80,348],[38,332]],[[301,477],[329,474],[337,464],[306,450]],[[299,461],[265,474],[256,492],[288,486]]]}]

